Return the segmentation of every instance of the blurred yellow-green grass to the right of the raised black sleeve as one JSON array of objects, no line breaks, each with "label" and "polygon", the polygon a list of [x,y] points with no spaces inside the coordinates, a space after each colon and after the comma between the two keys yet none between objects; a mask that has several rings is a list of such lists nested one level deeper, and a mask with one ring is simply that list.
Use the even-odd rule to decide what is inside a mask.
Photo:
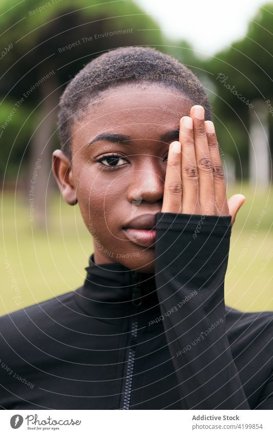
[{"label": "blurred yellow-green grass to the right of the raised black sleeve", "polygon": [[242,193],[246,201],[232,229],[225,301],[245,311],[273,310],[273,195],[268,192],[248,186],[228,191],[228,196]]}]

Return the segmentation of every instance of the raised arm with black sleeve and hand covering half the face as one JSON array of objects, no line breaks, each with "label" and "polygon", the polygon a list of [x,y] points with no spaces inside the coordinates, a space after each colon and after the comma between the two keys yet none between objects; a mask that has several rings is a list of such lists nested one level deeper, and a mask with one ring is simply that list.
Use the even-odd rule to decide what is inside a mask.
[{"label": "raised arm with black sleeve and hand covering half the face", "polygon": [[227,202],[213,122],[193,106],[170,145],[155,247],[163,324],[187,409],[249,409],[224,309],[230,229],[243,201]]}]

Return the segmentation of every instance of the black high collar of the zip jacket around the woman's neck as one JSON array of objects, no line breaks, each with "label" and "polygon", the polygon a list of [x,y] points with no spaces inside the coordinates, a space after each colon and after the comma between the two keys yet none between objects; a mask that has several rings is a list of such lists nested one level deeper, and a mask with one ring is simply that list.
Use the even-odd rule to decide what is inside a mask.
[{"label": "black high collar of the zip jacket around the woman's neck", "polygon": [[136,313],[159,313],[154,274],[138,273],[119,262],[96,264],[94,254],[86,271],[85,282],[74,296],[88,315],[116,323]]}]

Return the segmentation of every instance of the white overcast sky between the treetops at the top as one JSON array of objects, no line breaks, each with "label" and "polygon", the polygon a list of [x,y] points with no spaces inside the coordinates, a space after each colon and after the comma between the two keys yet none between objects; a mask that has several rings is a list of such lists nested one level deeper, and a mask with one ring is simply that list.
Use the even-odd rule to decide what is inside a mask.
[{"label": "white overcast sky between the treetops at the top", "polygon": [[265,5],[259,0],[135,2],[145,12],[152,13],[166,35],[186,39],[203,56],[215,54],[241,39],[247,31],[249,20],[254,18],[260,6]]}]

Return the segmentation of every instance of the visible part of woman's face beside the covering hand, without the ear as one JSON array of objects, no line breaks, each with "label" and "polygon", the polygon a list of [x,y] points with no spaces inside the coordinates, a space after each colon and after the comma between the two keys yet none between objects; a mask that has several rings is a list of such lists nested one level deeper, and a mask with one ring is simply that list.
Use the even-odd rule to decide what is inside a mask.
[{"label": "visible part of woman's face beside the covering hand, without the ear", "polygon": [[167,154],[194,103],[157,84],[121,85],[98,99],[74,124],[70,174],[94,259],[152,273],[149,229],[162,207]]}]

